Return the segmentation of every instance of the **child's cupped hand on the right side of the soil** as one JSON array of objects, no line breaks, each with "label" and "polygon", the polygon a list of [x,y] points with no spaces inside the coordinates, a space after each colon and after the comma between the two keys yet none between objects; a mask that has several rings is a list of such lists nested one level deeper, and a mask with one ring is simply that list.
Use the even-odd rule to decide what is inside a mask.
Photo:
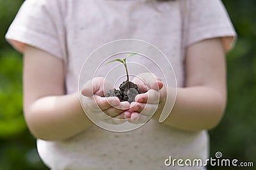
[{"label": "child's cupped hand on the right side of the soil", "polygon": [[130,115],[126,118],[132,124],[148,122],[154,113],[161,113],[166,101],[166,88],[164,83],[152,73],[141,73],[134,80],[142,94],[135,97],[131,103]]}]

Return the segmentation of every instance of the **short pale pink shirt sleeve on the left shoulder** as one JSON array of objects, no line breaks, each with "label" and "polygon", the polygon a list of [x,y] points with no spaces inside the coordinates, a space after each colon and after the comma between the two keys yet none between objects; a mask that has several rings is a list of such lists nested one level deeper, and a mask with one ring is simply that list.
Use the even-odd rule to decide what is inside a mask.
[{"label": "short pale pink shirt sleeve on the left shoulder", "polygon": [[20,52],[25,44],[66,58],[65,27],[58,1],[26,0],[10,25],[6,40]]}]

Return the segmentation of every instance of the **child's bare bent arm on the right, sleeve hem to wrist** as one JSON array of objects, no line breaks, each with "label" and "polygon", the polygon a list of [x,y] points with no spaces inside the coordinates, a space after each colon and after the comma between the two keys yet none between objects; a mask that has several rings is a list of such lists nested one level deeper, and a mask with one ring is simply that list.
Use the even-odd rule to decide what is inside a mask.
[{"label": "child's bare bent arm on the right, sleeve hem to wrist", "polygon": [[227,100],[221,39],[207,39],[189,46],[185,64],[186,85],[177,89],[172,113],[163,124],[188,131],[212,129],[220,122]]}]

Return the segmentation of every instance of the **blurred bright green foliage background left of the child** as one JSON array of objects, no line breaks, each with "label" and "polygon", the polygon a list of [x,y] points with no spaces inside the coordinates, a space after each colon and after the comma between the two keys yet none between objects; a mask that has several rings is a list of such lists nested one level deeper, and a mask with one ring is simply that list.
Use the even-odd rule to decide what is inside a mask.
[{"label": "blurred bright green foliage background left of the child", "polygon": [[4,34],[23,0],[0,0],[0,170],[47,169],[22,115],[22,57]]}]

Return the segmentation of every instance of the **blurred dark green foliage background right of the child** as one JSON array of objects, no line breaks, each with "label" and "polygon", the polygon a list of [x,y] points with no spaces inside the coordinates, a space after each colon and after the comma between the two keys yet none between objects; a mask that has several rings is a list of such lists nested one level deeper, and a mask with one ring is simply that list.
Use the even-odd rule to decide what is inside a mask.
[{"label": "blurred dark green foliage background right of the child", "polygon": [[[228,103],[220,125],[209,132],[211,156],[252,162],[256,166],[256,1],[223,0],[238,35],[227,54]],[[239,167],[241,168],[241,167]],[[234,167],[209,167],[234,169]],[[252,169],[244,168],[243,169]]]}]

